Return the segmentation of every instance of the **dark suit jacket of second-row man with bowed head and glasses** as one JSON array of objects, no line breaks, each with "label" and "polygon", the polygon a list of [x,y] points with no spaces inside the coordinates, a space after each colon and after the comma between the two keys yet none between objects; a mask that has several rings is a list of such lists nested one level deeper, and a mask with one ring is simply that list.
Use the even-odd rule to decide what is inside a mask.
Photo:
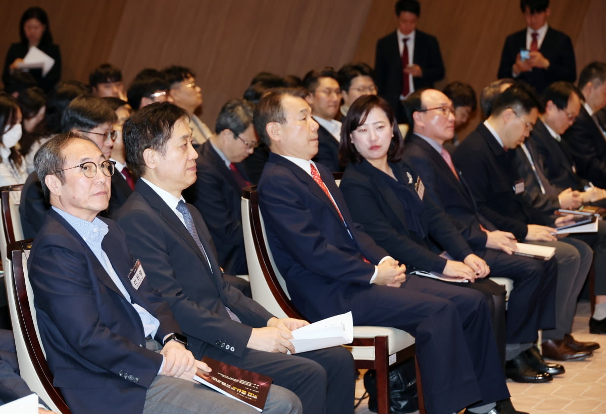
[{"label": "dark suit jacket of second-row man with bowed head and glasses", "polygon": [[[196,164],[196,182],[183,192],[183,196],[202,214],[224,272],[245,275],[248,266],[240,210],[242,189],[210,141],[198,149]],[[250,181],[244,164],[239,162],[236,168]]]}]

